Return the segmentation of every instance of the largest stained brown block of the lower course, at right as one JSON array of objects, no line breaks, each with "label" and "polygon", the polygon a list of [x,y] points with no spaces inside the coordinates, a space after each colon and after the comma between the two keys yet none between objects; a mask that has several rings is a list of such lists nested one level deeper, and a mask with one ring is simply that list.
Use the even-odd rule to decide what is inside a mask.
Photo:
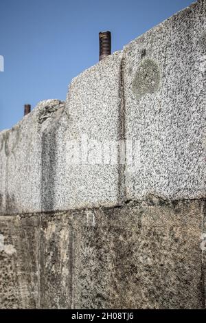
[{"label": "largest stained brown block of the lower course, at right", "polygon": [[151,199],[74,219],[75,309],[204,308],[201,201]]}]

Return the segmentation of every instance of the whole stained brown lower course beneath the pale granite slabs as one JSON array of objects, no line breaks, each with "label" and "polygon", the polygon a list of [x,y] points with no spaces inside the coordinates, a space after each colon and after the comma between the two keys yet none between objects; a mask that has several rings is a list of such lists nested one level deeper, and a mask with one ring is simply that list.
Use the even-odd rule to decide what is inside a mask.
[{"label": "whole stained brown lower course beneath the pale granite slabs", "polygon": [[204,205],[153,198],[1,216],[0,307],[204,308]]}]

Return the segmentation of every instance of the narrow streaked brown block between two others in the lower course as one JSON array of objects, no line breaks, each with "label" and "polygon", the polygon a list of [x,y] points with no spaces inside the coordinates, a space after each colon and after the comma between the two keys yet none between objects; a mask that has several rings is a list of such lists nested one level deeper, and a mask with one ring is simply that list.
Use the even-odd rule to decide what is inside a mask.
[{"label": "narrow streaked brown block between two others in the lower course", "polygon": [[41,217],[40,296],[41,309],[73,306],[72,214]]}]

